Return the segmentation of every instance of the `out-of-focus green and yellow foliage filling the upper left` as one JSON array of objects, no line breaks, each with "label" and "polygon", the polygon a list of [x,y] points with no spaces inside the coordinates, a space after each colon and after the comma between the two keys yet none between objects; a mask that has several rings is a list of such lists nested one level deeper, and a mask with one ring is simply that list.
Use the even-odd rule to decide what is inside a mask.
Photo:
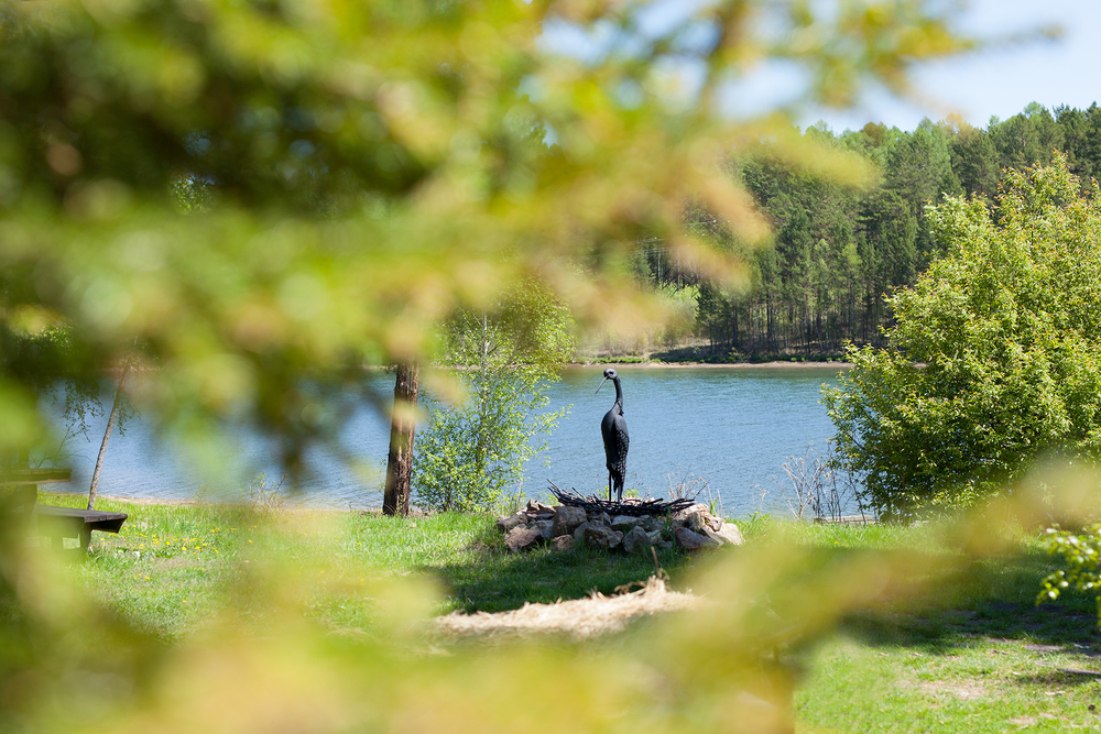
[{"label": "out-of-focus green and yellow foliage filling the upper left", "polygon": [[[456,308],[535,278],[582,325],[658,302],[620,277],[640,238],[711,277],[686,201],[766,227],[719,165],[772,139],[738,84],[795,64],[795,100],[905,91],[968,45],[937,3],[48,0],[0,8],[0,449],[36,441],[42,375],[98,375],[137,340],[139,401],[209,440],[331,426],[325,390],[432,357]],[[64,359],[11,347],[48,328]],[[29,375],[37,375],[31,377]]]}]

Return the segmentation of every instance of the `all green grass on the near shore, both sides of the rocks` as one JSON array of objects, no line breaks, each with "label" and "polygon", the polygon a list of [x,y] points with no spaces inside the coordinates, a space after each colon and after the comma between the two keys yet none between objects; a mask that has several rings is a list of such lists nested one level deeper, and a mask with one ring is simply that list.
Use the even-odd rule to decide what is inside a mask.
[{"label": "all green grass on the near shore, both sides of the rocks", "polygon": [[[370,636],[384,614],[370,598],[386,579],[419,580],[416,588],[433,600],[428,612],[438,614],[516,609],[591,589],[611,593],[653,571],[651,560],[624,556],[511,555],[484,516],[394,521],[227,506],[98,506],[130,519],[119,536],[97,534],[87,560],[70,572],[108,607],[170,640],[200,632],[226,607],[244,610],[262,629],[275,613],[272,589],[330,632]],[[978,554],[964,549],[958,533],[931,526],[793,526],[765,518],[742,528],[744,549],[666,552],[661,562],[675,587],[721,596],[727,579],[746,573],[724,563],[756,559],[767,578],[750,573],[742,583],[766,590],[753,603],[766,599],[785,621],[813,617],[816,606],[844,607],[817,628],[803,620],[804,633],[777,648],[798,671],[799,731],[1101,728],[1093,600],[1071,594],[1059,604],[1034,604],[1040,578],[1053,568],[1035,535],[1018,533]],[[767,565],[784,554],[795,560]],[[723,616],[701,624],[716,618],[721,624]],[[731,612],[729,618],[752,616]]]}]

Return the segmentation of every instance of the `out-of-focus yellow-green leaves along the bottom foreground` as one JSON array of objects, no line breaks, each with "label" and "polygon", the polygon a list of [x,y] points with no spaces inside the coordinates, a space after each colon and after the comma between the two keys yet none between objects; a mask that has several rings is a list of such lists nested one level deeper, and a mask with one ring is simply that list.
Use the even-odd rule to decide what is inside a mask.
[{"label": "out-of-focus yellow-green leaves along the bottom foreground", "polygon": [[[695,580],[709,601],[690,615],[584,643],[453,639],[434,631],[432,583],[334,557],[321,538],[336,528],[306,517],[316,521],[237,517],[248,543],[231,537],[227,517],[214,588],[176,590],[195,623],[171,640],[133,624],[122,600],[101,605],[111,590],[85,593],[74,567],[26,559],[22,607],[2,610],[0,727],[484,732],[535,731],[553,716],[573,731],[789,731],[793,671],[774,648],[830,628],[897,570],[868,556],[809,573],[797,544],[777,538],[715,558]],[[199,563],[174,554],[157,572]],[[126,587],[126,558],[96,562],[118,566]],[[820,604],[808,607],[805,594]]]}]

